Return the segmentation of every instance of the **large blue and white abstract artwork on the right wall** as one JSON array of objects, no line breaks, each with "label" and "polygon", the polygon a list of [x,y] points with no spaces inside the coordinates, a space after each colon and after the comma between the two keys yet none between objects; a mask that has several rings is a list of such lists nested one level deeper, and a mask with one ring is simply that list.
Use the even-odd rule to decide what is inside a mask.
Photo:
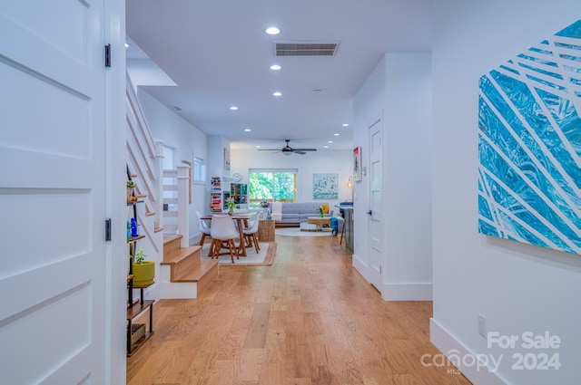
[{"label": "large blue and white abstract artwork on the right wall", "polygon": [[581,254],[581,20],[479,90],[478,231]]}]

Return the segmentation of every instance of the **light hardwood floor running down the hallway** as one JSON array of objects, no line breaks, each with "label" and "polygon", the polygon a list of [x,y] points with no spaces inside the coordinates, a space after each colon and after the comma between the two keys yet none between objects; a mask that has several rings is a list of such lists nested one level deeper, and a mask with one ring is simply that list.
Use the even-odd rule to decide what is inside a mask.
[{"label": "light hardwood floor running down the hallway", "polygon": [[[222,267],[197,300],[155,304],[128,385],[469,384],[422,365],[431,302],[385,302],[336,237],[277,236],[271,266]],[[431,358],[424,362],[431,362]]]}]

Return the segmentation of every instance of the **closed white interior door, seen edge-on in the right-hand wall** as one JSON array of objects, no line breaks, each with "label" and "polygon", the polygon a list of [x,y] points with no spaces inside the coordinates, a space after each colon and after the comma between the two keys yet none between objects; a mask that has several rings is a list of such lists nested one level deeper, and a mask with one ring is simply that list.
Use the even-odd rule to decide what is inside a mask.
[{"label": "closed white interior door, seen edge-on in the right-hand wall", "polygon": [[369,282],[379,292],[383,282],[383,120],[373,119],[369,125]]}]

